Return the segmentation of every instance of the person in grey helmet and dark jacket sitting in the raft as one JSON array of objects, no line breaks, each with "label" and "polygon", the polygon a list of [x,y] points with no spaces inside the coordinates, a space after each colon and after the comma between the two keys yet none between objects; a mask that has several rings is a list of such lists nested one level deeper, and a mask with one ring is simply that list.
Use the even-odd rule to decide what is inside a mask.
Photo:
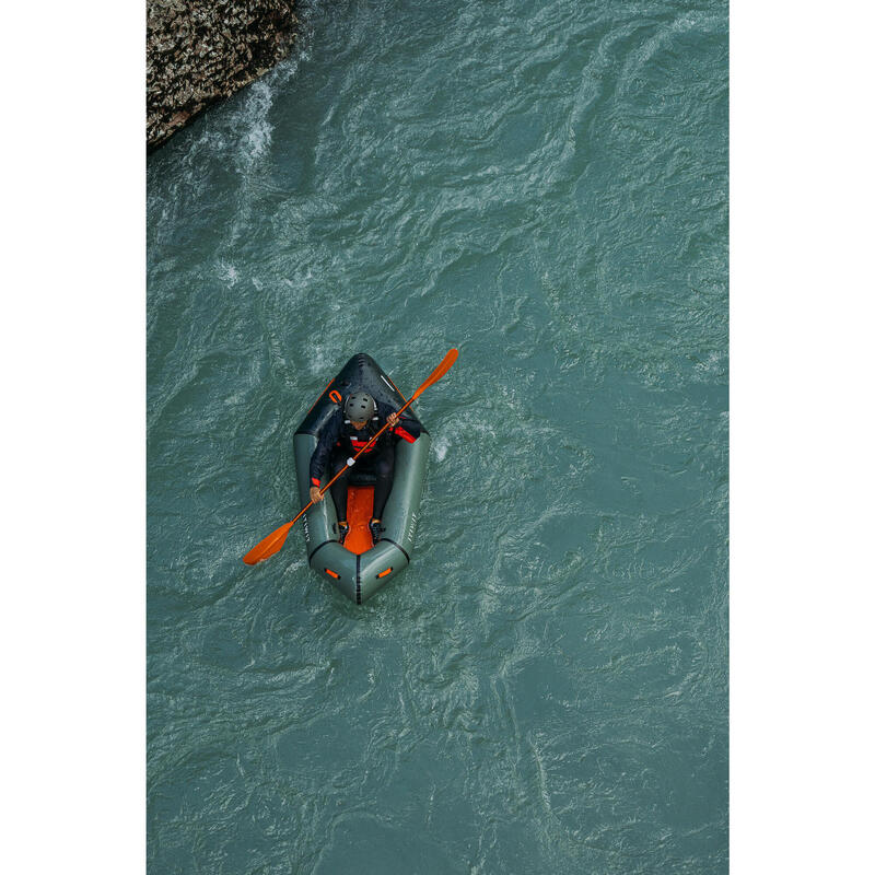
[{"label": "person in grey helmet and dark jacket sitting in the raft", "polygon": [[[334,477],[347,466],[347,459],[354,456],[380,431],[384,423],[388,429],[377,441],[362,453],[355,467],[376,475],[374,487],[374,513],[368,527],[374,544],[383,532],[381,521],[383,510],[392,491],[395,471],[395,444],[398,440],[413,443],[419,438],[421,427],[415,419],[398,418],[396,410],[382,401],[376,401],[366,392],[353,392],[347,396],[342,411],[338,408],[325,423],[319,441],[310,458],[310,500],[315,504],[323,500],[319,492],[323,475],[328,466]],[[339,540],[342,544],[349,534],[347,522],[347,477],[340,477],[331,486],[331,499],[337,511]]]}]

